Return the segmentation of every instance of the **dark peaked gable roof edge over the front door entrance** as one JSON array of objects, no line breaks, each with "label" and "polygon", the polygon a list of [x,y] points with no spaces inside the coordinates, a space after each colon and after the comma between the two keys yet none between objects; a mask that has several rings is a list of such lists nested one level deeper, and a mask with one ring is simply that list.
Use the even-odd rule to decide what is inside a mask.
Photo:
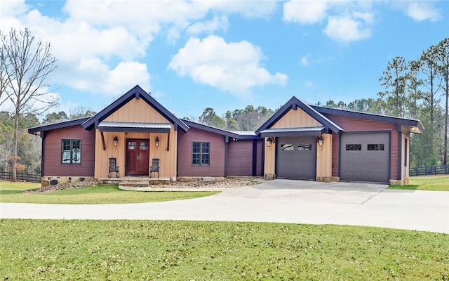
[{"label": "dark peaked gable roof edge over the front door entrance", "polygon": [[159,112],[171,124],[175,125],[175,130],[177,130],[178,127],[183,129],[184,131],[189,130],[189,126],[187,126],[180,119],[177,119],[175,115],[173,115],[165,107],[163,107],[160,103],[158,103],[152,96],[150,96],[146,91],[140,88],[139,85],[134,86],[133,89],[130,89],[127,93],[123,94],[123,96],[115,100],[114,103],[111,103],[110,105],[105,107],[105,109],[98,112],[95,116],[91,117],[91,119],[88,119],[86,122],[84,122],[83,128],[86,130],[98,128],[100,122],[102,122],[107,117],[112,115],[114,112],[116,112],[116,110],[119,110],[121,107],[123,107],[123,105],[126,105],[126,103],[128,103],[130,100],[133,100],[133,98],[135,99],[142,98],[142,100],[145,100],[145,102],[147,102],[148,105],[153,107],[154,110]]}]

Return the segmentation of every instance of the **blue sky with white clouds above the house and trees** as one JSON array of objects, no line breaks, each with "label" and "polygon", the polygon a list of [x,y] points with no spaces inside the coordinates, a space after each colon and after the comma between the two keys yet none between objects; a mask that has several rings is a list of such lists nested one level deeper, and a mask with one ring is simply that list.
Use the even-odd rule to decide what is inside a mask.
[{"label": "blue sky with white clouds above the house and trees", "polygon": [[138,84],[177,117],[222,117],[377,98],[392,58],[449,37],[449,1],[2,0],[1,32],[25,27],[58,58],[54,112],[99,112]]}]

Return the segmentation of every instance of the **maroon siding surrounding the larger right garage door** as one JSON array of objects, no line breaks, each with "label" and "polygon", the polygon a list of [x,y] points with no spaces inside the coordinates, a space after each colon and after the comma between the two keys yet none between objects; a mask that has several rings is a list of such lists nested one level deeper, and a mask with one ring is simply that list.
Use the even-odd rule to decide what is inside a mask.
[{"label": "maroon siding surrounding the larger right garage door", "polygon": [[[332,120],[335,124],[342,127],[345,132],[348,131],[358,131],[363,133],[363,131],[391,131],[391,156],[390,156],[390,178],[396,179],[398,176],[398,131],[396,130],[396,124],[380,122],[368,119],[361,119],[355,117],[345,117],[340,115],[330,115],[324,114],[328,119]],[[338,136],[335,136],[338,138]],[[340,146],[338,145],[338,140],[333,141],[333,157],[332,157],[332,165],[333,176],[337,176],[338,174],[338,157],[334,157],[334,155],[339,155]],[[335,174],[336,172],[336,174]]]}]

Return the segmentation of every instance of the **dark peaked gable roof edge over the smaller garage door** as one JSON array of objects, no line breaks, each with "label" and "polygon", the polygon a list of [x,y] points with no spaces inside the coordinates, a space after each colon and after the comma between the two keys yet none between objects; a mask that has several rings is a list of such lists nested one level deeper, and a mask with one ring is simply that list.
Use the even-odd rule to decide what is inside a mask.
[{"label": "dark peaked gable roof edge over the smaller garage door", "polygon": [[297,110],[297,107],[300,107],[300,109],[304,110],[304,112],[306,112],[316,121],[323,124],[323,128],[319,130],[320,132],[330,133],[330,131],[333,131],[335,133],[340,133],[343,131],[340,126],[330,121],[330,119],[322,115],[320,112],[314,110],[314,108],[312,108],[310,105],[307,105],[307,103],[304,103],[293,96],[285,105],[283,105],[283,107],[281,107],[276,113],[274,113],[274,115],[270,117],[267,122],[262,124],[262,126],[260,126],[260,128],[255,131],[256,136],[259,136],[262,131],[266,133],[266,130],[270,129],[274,124],[276,124],[276,122],[278,122],[284,115],[286,115],[287,112],[289,112],[290,110]]}]

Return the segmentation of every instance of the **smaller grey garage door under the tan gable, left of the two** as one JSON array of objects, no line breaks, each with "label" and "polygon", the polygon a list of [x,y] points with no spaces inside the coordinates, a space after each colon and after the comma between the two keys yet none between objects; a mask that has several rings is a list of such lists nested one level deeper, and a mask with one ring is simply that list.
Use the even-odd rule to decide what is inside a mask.
[{"label": "smaller grey garage door under the tan gable, left of the two", "polygon": [[278,138],[276,150],[277,178],[315,180],[316,141],[314,137]]}]

